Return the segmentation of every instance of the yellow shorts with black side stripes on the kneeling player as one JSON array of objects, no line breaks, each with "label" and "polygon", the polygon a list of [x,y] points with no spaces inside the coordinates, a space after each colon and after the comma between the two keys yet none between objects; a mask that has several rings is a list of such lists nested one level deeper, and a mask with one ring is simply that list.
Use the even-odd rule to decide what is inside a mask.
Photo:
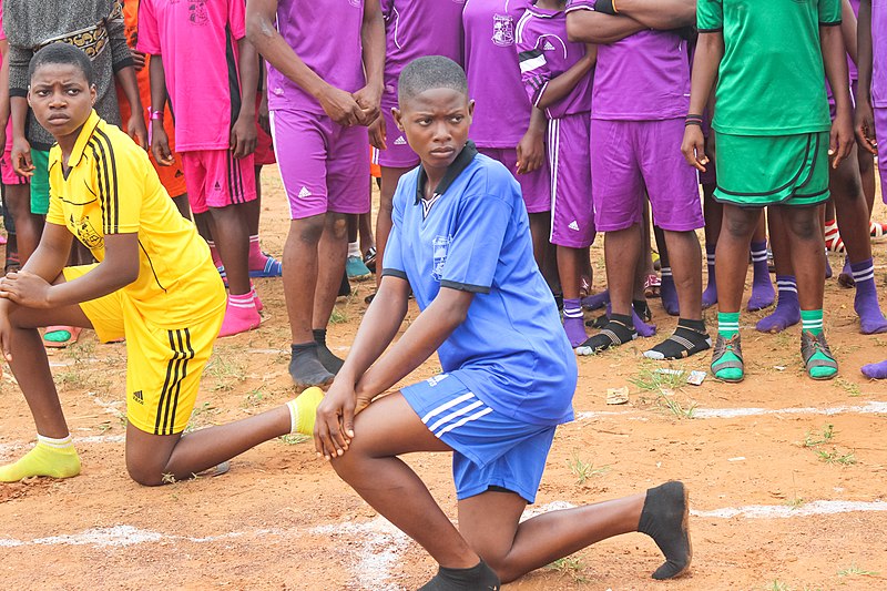
[{"label": "yellow shorts with black side stripes on the kneeling player", "polygon": [[[73,281],[96,265],[64,268]],[[126,418],[137,429],[154,435],[185,430],[197,399],[201,375],[222,327],[218,314],[191,326],[169,329],[152,323],[122,291],[80,308],[102,343],[126,339]]]}]

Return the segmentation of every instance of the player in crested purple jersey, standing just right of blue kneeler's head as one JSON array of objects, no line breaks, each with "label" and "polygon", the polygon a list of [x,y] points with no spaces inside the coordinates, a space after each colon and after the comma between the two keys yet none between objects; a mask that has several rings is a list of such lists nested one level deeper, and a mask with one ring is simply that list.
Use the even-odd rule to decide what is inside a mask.
[{"label": "player in crested purple jersey, standing just right of blue kneeler's head", "polygon": [[533,256],[549,285],[546,264],[551,225],[551,186],[546,160],[546,115],[533,109],[520,81],[514,28],[530,0],[467,0],[465,69],[477,104],[471,139],[481,154],[514,174],[530,214]]}]

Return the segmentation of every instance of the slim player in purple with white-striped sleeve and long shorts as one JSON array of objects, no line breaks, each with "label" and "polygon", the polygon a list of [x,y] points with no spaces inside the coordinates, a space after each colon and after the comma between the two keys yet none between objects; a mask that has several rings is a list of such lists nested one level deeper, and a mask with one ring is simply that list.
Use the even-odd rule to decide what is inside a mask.
[{"label": "slim player in purple with white-striped sleeve and long shorts", "polygon": [[570,345],[585,342],[580,289],[594,242],[591,204],[591,70],[597,50],[567,39],[565,0],[538,0],[518,21],[514,49],[533,106],[548,119],[551,244],[558,249],[563,328]]}]

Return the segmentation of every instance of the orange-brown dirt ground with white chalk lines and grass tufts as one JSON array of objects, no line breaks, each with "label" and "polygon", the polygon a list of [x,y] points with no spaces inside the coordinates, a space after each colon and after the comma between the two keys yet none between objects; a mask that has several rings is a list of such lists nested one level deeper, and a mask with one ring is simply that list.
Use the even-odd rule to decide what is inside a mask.
[{"label": "orange-brown dirt ground with white chalk lines and grass tufts", "polygon": [[[276,171],[264,173],[264,247],[279,256],[287,230]],[[879,204],[876,218],[887,218]],[[594,248],[595,269],[602,252]],[[876,246],[887,308],[887,245]],[[832,265],[839,257],[832,256]],[[595,285],[603,284],[602,273]],[[329,329],[345,355],[371,282],[355,284]],[[257,284],[259,329],[221,340],[204,376],[193,427],[261,412],[293,396],[281,279]],[[746,292],[747,296],[747,292]],[[675,320],[652,300],[660,334]],[[410,310],[415,318],[418,310]],[[798,328],[754,333],[743,315],[747,379],[679,384],[660,367],[706,370],[708,355],[653,364],[639,340],[579,359],[578,420],[558,431],[531,511],[610,499],[684,480],[691,491],[693,567],[656,583],[661,556],[642,534],[622,536],[532,573],[507,589],[887,588],[887,385],[860,365],[887,357],[887,336],[860,336],[853,292],[826,287],[826,329],[840,376],[814,383],[801,368]],[[591,314],[589,315],[591,317]],[[714,327],[714,313],[708,320]],[[123,461],[123,345],[88,333],[51,357],[83,461],[78,478],[0,485],[0,589],[416,589],[432,561],[338,480],[313,445],[275,440],[213,479],[149,489]],[[439,371],[436,358],[412,379]],[[606,389],[630,401],[608,406]],[[33,424],[9,371],[0,386],[0,461],[18,457]],[[448,514],[456,499],[447,457],[409,463]],[[568,505],[569,503],[569,505]]]}]

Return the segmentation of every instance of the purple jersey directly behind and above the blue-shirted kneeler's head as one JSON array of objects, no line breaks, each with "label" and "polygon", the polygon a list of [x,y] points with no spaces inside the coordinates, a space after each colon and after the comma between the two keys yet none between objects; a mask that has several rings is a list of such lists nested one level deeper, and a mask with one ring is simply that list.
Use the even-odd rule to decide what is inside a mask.
[{"label": "purple jersey directly behind and above the blue-shirted kneeler's head", "polygon": [[412,60],[443,55],[462,64],[463,6],[465,0],[381,0],[387,105],[396,106],[397,80]]}]

